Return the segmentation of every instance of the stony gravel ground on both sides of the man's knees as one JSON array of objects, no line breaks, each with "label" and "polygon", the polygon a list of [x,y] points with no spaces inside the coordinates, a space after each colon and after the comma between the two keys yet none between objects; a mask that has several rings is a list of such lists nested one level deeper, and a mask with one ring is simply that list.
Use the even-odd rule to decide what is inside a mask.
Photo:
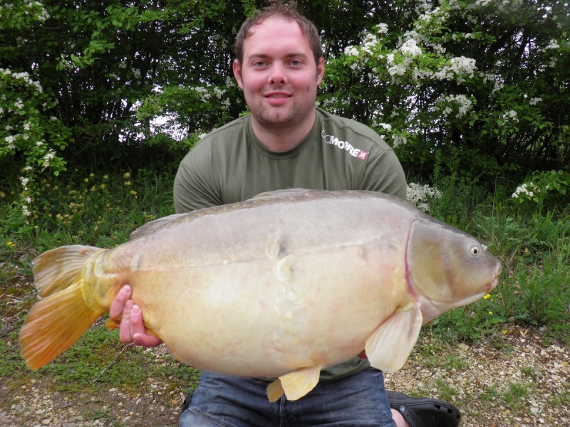
[{"label": "stony gravel ground on both sides of the man's knees", "polygon": [[[569,350],[544,346],[537,328],[503,332],[446,354],[430,353],[423,339],[403,369],[386,375],[386,386],[450,399],[462,411],[462,427],[570,426]],[[55,386],[42,377],[11,388],[0,378],[0,426],[177,426],[183,399],[154,379],[129,395],[68,395]]]}]

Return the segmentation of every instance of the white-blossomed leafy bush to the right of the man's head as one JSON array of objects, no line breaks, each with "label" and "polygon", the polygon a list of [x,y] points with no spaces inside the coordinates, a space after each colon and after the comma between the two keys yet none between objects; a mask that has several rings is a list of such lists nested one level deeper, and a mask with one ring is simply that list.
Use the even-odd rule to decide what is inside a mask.
[{"label": "white-blossomed leafy bush to the right of the man's head", "polygon": [[370,122],[415,174],[453,150],[472,177],[561,167],[570,20],[564,2],[547,3],[396,2],[399,21],[329,61],[347,101],[331,107]]}]

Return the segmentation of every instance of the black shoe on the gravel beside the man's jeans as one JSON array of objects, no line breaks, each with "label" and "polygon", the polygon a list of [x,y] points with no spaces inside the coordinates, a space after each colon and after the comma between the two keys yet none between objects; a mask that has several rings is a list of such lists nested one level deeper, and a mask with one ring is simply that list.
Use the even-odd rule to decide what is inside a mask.
[{"label": "black shoe on the gravel beside the man's jeans", "polygon": [[411,427],[457,427],[461,413],[452,404],[436,399],[415,399],[386,391],[390,408],[402,414]]}]

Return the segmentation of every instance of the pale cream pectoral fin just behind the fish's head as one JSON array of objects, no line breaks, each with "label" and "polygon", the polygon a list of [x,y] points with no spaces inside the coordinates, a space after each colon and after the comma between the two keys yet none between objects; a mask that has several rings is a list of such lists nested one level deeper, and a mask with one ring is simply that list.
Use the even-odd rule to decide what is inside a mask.
[{"label": "pale cream pectoral fin just behind the fish's head", "polygon": [[371,365],[386,372],[398,371],[410,356],[422,327],[422,312],[414,302],[388,317],[366,339],[366,355]]}]

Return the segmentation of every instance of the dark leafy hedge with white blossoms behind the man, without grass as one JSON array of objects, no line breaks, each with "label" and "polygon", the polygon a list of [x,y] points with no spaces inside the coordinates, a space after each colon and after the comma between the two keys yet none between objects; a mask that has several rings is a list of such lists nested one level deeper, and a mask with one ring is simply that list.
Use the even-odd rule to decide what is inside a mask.
[{"label": "dark leafy hedge with white blossoms behind the man, without grass", "polygon": [[[35,215],[40,178],[108,162],[138,169],[165,153],[176,162],[199,135],[242,113],[232,43],[244,17],[265,4],[2,4],[0,169],[22,177],[20,215]],[[321,31],[327,58],[318,102],[383,135],[410,181],[426,181],[436,164],[447,174],[452,159],[460,176],[487,182],[568,163],[564,1],[299,6]],[[0,176],[0,191],[10,182]]]}]

